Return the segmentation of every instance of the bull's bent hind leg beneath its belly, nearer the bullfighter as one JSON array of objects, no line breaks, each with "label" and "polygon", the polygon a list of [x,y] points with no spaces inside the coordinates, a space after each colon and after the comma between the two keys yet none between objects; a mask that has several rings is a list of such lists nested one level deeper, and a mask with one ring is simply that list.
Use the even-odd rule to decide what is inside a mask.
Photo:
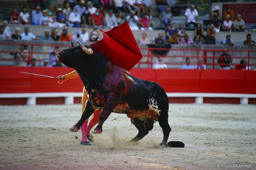
[{"label": "bull's bent hind leg beneath its belly, nearer the bullfighter", "polygon": [[145,118],[145,116],[135,117],[132,120],[132,124],[139,130],[138,134],[130,140],[130,142],[137,142],[141,140],[144,136],[148,134],[148,131],[153,129],[154,121],[149,118]]}]

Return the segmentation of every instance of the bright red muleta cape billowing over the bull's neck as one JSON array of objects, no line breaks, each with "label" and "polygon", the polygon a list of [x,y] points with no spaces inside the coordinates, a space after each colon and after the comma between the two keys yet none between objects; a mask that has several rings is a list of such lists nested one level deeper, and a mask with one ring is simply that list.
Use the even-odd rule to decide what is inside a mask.
[{"label": "bright red muleta cape billowing over the bull's neck", "polygon": [[104,54],[127,71],[142,59],[143,55],[127,21],[109,31],[100,31],[103,39],[89,45],[93,51]]}]

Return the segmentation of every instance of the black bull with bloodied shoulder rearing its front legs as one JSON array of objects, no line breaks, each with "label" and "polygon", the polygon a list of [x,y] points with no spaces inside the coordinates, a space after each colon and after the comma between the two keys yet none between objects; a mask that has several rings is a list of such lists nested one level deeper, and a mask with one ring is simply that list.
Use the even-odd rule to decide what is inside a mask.
[{"label": "black bull with bloodied shoulder rearing its front legs", "polygon": [[[78,42],[79,43],[79,42]],[[102,125],[111,112],[127,114],[138,129],[131,141],[137,142],[148,134],[155,121],[163,129],[164,138],[159,144],[167,146],[171,128],[168,124],[168,97],[156,82],[138,79],[115,65],[106,56],[80,46],[57,53],[60,62],[74,68],[88,93],[88,101],[81,119],[70,131],[77,132],[96,109],[102,109],[94,133],[102,132]]]}]

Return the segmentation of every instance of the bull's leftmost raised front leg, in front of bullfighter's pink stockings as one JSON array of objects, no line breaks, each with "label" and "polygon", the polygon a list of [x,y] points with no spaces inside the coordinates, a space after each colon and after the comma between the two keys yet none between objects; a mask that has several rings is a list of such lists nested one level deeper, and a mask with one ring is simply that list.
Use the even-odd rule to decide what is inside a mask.
[{"label": "bull's leftmost raised front leg, in front of bullfighter's pink stockings", "polygon": [[92,108],[92,104],[89,100],[87,100],[86,102],[86,106],[83,110],[83,113],[81,115],[80,120],[77,122],[76,125],[74,125],[73,127],[71,127],[69,130],[71,132],[77,132],[78,130],[80,130],[81,126],[83,125],[84,121],[86,121],[86,119],[88,119],[94,112],[94,109]]}]

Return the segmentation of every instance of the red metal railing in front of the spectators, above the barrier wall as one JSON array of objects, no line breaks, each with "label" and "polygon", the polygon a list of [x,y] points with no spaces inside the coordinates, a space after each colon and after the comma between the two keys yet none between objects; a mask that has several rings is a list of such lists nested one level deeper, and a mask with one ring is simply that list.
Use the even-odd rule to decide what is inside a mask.
[{"label": "red metal railing in front of the spectators, above the barrier wall", "polygon": [[[50,46],[50,47],[53,47],[53,45],[50,45],[50,44],[25,44],[25,43],[0,43],[0,45],[27,45],[27,46],[31,46],[30,48],[30,51],[29,52],[22,52],[22,51],[0,51],[0,53],[29,53],[31,56],[30,56],[30,59],[33,58],[33,54],[50,54],[49,52],[41,52],[41,51],[35,51],[34,50],[34,46]],[[70,47],[70,45],[57,45],[59,47]],[[153,57],[168,57],[168,58],[174,58],[174,57],[181,57],[181,58],[184,58],[184,61],[185,61],[185,58],[189,57],[189,58],[196,58],[197,59],[197,63],[191,63],[191,65],[195,65],[197,66],[197,69],[198,69],[198,66],[199,66],[199,59],[203,59],[203,64],[205,64],[206,66],[212,66],[212,69],[215,69],[215,66],[222,66],[222,69],[224,68],[224,66],[235,66],[237,65],[238,63],[230,63],[230,64],[222,64],[223,63],[223,60],[224,58],[223,57],[219,57],[219,56],[216,56],[216,51],[227,51],[227,52],[231,52],[231,51],[236,51],[236,52],[247,52],[247,56],[231,56],[231,57],[225,57],[225,58],[231,58],[231,59],[235,59],[235,58],[238,58],[238,59],[247,59],[248,61],[248,68],[249,66],[256,66],[255,64],[250,64],[250,59],[255,59],[256,56],[250,56],[250,53],[251,52],[256,52],[256,50],[232,50],[232,49],[228,49],[228,50],[225,50],[225,49],[166,49],[166,48],[140,48],[141,50],[147,50],[146,52],[146,55],[144,55],[144,58],[146,57],[147,58],[147,61],[146,62],[142,62],[142,61],[139,61],[138,62],[138,68],[141,68],[141,64],[146,64],[147,65],[147,68],[152,68],[152,65],[153,65]],[[168,51],[196,51],[197,52],[197,55],[196,56],[182,56],[182,55],[154,55],[153,54],[153,50],[168,50]],[[200,51],[203,51],[203,56],[200,56]],[[207,56],[207,52],[208,51],[212,51],[212,56]],[[209,58],[212,58],[212,63],[207,63],[207,59]],[[218,58],[222,58],[222,63],[215,63],[215,59],[218,59]],[[15,61],[15,59],[0,59],[0,61]],[[27,59],[20,59],[19,61],[27,61]],[[36,60],[36,61],[42,61],[42,60]],[[177,62],[173,62],[173,63],[169,63],[169,62],[165,62],[165,64],[167,65],[184,65],[186,64],[185,62],[184,63],[177,63]]]}]

